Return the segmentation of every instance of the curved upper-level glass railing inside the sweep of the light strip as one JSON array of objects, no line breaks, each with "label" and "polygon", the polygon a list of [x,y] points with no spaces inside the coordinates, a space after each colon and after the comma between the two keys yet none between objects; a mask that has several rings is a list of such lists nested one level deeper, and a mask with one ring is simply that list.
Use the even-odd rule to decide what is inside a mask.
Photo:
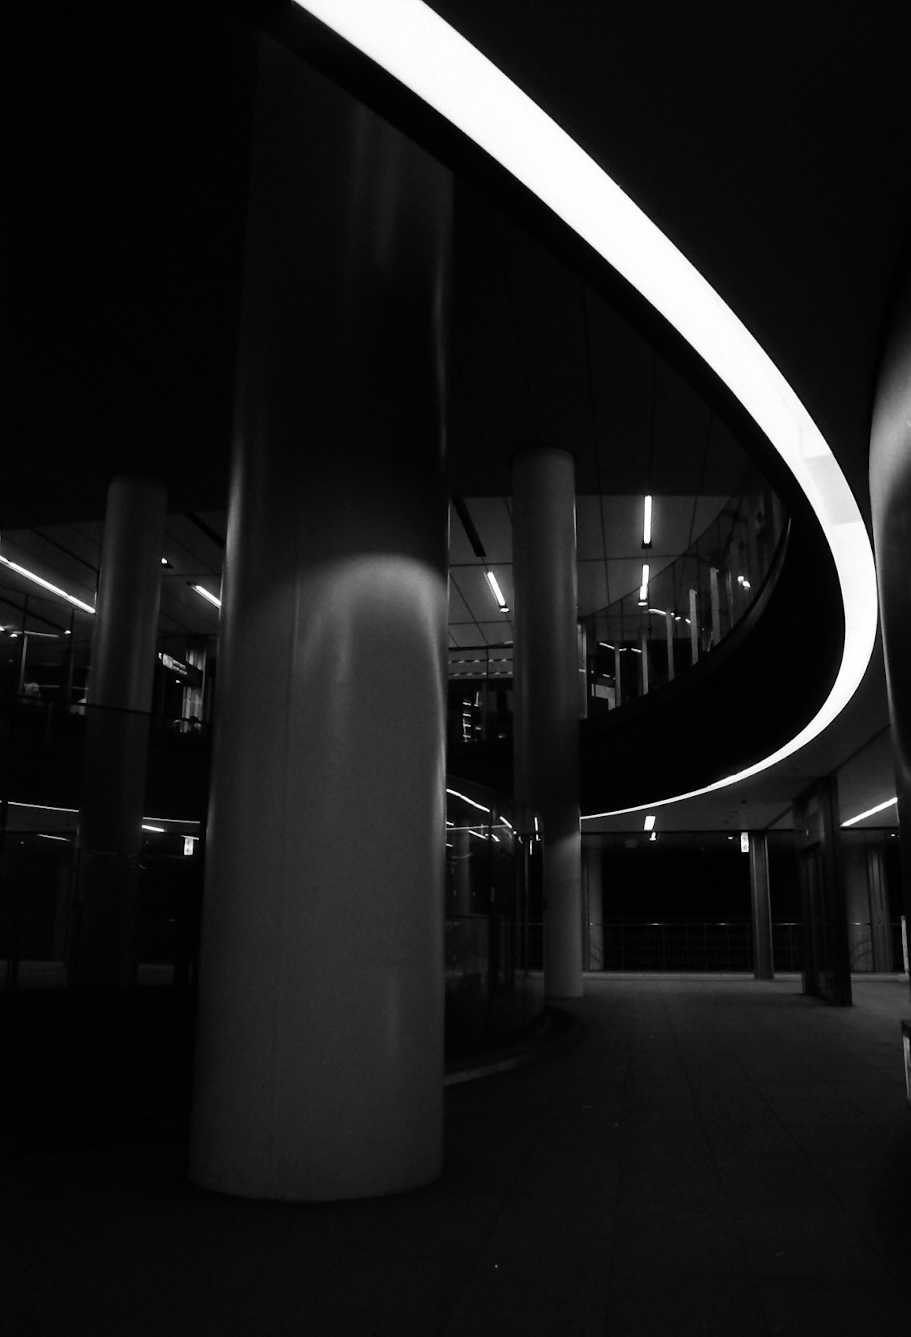
[{"label": "curved upper-level glass railing inside the sweep of the light strip", "polygon": [[645,697],[714,650],[752,608],[785,537],[779,497],[750,471],[686,552],[582,619],[583,714]]}]

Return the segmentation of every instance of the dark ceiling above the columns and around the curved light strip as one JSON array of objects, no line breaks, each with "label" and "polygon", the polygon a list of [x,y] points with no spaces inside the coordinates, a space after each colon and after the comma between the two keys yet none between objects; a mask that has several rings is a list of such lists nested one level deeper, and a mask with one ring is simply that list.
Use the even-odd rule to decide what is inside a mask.
[{"label": "dark ceiling above the columns and around the curved light strip", "polygon": [[[167,5],[16,16],[0,552],[91,592],[108,476],[154,469],[170,493],[162,630],[171,632],[213,631],[217,620],[191,584],[217,590],[225,532],[256,56],[237,8],[182,5],[179,29],[173,16],[162,21]],[[868,513],[870,405],[911,225],[908,5],[872,0],[863,20],[784,0],[433,8],[539,100],[745,320]],[[581,598],[601,606],[635,584],[642,493],[660,499],[657,516],[666,505],[655,555],[660,541],[670,555],[734,491],[746,457],[662,350],[462,180],[455,222],[451,491],[467,499],[508,598],[511,455],[573,451]],[[508,639],[456,517],[451,532],[451,639]],[[8,570],[4,620],[21,616],[25,592],[29,616],[45,619],[36,630],[58,618],[68,628],[64,606],[55,612]],[[752,787],[677,805],[674,820],[724,826],[745,797],[757,818],[777,821],[807,778],[839,767],[870,806],[862,790],[875,801],[891,785],[876,743],[886,723],[880,655],[799,759]],[[870,765],[857,763],[855,785],[848,758],[864,747]]]}]

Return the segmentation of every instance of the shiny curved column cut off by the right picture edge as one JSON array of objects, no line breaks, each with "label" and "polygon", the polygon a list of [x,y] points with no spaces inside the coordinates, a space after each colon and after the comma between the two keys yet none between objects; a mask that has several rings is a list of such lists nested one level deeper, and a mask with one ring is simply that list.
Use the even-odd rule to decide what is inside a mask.
[{"label": "shiny curved column cut off by the right picture edge", "polygon": [[870,500],[902,832],[902,892],[911,924],[911,263],[895,294],[874,402]]}]

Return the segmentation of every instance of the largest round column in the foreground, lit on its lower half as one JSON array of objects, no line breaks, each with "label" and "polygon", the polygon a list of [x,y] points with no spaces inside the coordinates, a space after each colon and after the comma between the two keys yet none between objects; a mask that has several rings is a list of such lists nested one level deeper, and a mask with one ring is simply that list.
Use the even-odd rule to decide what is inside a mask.
[{"label": "largest round column in the foreground, lit on its lower half", "polygon": [[449,218],[264,39],[190,1158],[225,1193],[440,1170]]}]

